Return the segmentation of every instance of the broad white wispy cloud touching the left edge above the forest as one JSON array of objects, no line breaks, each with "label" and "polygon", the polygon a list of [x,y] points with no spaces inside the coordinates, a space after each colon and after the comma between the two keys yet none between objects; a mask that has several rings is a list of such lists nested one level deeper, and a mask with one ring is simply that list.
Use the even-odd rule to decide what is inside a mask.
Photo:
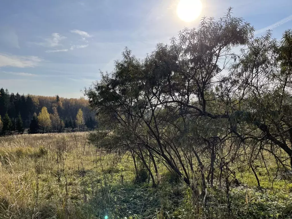
[{"label": "broad white wispy cloud touching the left edge above the forest", "polygon": [[43,60],[37,56],[16,56],[0,53],[0,67],[35,67],[39,65],[41,61]]}]

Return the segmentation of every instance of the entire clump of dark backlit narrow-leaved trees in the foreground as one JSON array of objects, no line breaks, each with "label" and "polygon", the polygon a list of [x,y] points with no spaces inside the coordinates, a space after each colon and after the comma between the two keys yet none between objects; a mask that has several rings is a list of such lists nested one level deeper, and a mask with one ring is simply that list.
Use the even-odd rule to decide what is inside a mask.
[{"label": "entire clump of dark backlit narrow-leaved trees in the foreground", "polygon": [[142,60],[126,49],[112,72],[85,89],[102,126],[91,142],[132,156],[135,173],[139,161],[153,186],[164,165],[201,201],[207,187],[224,186],[229,203],[240,168],[250,168],[260,187],[256,162],[275,159],[291,171],[292,31],[281,40],[253,32],[230,9]]}]

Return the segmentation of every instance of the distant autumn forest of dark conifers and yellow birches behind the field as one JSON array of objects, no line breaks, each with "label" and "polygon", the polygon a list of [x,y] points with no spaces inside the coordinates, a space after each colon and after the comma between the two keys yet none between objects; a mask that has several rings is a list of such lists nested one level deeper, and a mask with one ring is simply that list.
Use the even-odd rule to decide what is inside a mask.
[{"label": "distant autumn forest of dark conifers and yellow birches behind the field", "polygon": [[92,130],[95,114],[84,98],[20,95],[0,89],[0,133],[68,132]]}]

